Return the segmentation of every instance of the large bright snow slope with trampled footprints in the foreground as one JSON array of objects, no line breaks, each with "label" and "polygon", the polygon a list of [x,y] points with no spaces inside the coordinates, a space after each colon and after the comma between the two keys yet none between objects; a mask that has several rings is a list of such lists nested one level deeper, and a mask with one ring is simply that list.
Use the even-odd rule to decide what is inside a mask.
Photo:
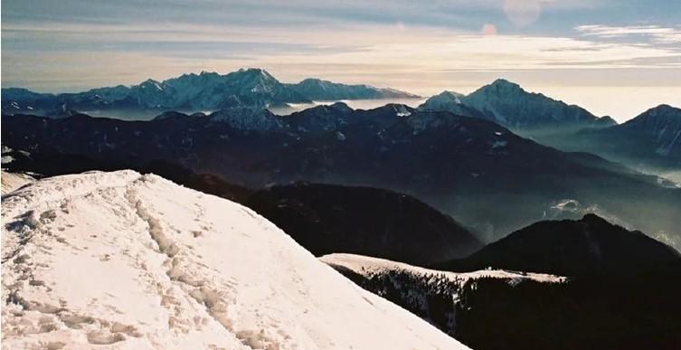
[{"label": "large bright snow slope with trampled footprints in the foreground", "polygon": [[3,198],[3,348],[457,349],[251,210],[132,171]]}]

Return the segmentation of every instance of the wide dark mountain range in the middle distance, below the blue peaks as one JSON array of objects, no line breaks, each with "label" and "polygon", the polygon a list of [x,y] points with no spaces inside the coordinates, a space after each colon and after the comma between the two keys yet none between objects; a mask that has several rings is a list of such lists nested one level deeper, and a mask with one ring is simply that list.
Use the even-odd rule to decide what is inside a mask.
[{"label": "wide dark mountain range in the middle distance, below the blue peaks", "polygon": [[[160,159],[251,188],[307,181],[391,189],[451,215],[480,241],[586,210],[677,244],[681,190],[488,120],[395,104],[354,110],[337,103],[284,117],[239,110],[129,122],[5,115],[2,137],[33,156],[128,166]],[[579,208],[562,206],[566,201]]]}]

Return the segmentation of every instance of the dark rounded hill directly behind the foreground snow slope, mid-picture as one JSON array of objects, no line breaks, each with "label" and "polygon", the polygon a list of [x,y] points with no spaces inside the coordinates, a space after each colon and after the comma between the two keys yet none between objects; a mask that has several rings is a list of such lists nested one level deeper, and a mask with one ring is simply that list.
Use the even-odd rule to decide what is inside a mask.
[{"label": "dark rounded hill directly behind the foreground snow slope, mid-picture", "polygon": [[260,190],[245,204],[317,256],[348,252],[423,266],[482,247],[449,216],[383,189],[297,183]]}]

